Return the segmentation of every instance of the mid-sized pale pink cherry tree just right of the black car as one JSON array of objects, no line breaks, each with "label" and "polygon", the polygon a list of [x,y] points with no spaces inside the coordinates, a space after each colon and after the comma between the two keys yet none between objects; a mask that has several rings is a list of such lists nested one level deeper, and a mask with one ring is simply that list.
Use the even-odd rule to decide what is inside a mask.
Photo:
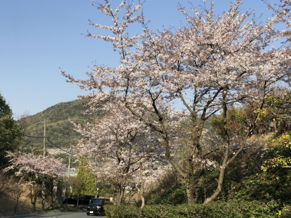
[{"label": "mid-sized pale pink cherry tree just right of the black car", "polygon": [[[116,201],[120,205],[128,178],[139,164],[159,155],[155,146],[159,141],[122,104],[104,104],[102,110],[107,111],[105,115],[92,118],[84,127],[75,124],[75,130],[84,136],[75,149],[79,156],[91,159],[88,166],[97,179],[115,184]],[[94,158],[98,158],[98,163]]]}]

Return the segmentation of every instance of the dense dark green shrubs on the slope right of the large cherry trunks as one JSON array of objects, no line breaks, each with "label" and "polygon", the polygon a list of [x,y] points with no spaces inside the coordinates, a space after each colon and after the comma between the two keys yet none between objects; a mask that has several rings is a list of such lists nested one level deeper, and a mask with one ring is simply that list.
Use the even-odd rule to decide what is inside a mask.
[{"label": "dense dark green shrubs on the slope right of the large cherry trunks", "polygon": [[[251,140],[257,136],[252,136]],[[280,138],[276,136],[275,138]],[[274,137],[267,142],[272,144]],[[290,148],[285,146],[266,146],[264,139],[261,142],[253,142],[252,149],[244,150],[226,171],[225,181],[221,194],[217,200],[242,199],[246,201],[259,200],[268,203],[276,200],[282,206],[291,202],[289,187],[291,170],[285,164],[274,162],[277,157],[290,155]],[[276,140],[275,140],[276,141]],[[267,143],[266,143],[267,144]],[[275,167],[272,167],[272,165]],[[215,171],[207,171],[205,174],[204,190],[211,191],[214,182]]]}]

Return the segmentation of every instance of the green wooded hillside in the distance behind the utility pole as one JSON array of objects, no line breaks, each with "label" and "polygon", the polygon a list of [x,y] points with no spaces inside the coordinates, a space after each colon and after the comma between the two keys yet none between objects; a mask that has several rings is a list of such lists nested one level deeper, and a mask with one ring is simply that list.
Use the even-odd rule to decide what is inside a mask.
[{"label": "green wooded hillside in the distance behind the utility pole", "polygon": [[[26,135],[42,137],[44,135],[44,119],[47,119],[46,136],[54,144],[60,147],[69,147],[71,144],[76,144],[81,135],[74,131],[74,123],[84,123],[90,117],[83,114],[85,107],[84,100],[74,100],[69,102],[58,103],[46,110],[29,116],[29,127],[26,130]],[[26,137],[26,146],[43,146],[42,138]],[[48,146],[52,145],[47,143]],[[53,147],[53,146],[52,146]]]}]

